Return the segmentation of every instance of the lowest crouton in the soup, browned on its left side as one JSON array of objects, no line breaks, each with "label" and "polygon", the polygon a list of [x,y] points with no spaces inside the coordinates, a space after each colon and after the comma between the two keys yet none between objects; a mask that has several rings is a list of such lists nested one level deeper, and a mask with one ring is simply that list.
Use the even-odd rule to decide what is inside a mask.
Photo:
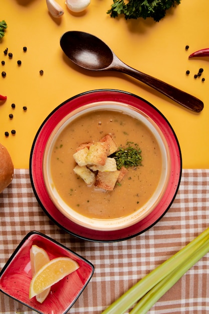
[{"label": "lowest crouton in the soup, browned on its left side", "polygon": [[96,176],[96,181],[94,185],[106,191],[113,191],[119,174],[120,174],[119,170],[110,172],[99,171]]}]

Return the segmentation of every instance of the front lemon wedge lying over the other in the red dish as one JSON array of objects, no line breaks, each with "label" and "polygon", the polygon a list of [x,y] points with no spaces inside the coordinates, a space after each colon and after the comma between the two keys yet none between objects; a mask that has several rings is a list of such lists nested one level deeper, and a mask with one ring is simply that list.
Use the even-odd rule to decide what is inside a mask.
[{"label": "front lemon wedge lying over the other in the red dish", "polygon": [[29,298],[31,299],[42,293],[78,268],[78,263],[69,257],[57,257],[50,260],[33,276],[29,289]]}]

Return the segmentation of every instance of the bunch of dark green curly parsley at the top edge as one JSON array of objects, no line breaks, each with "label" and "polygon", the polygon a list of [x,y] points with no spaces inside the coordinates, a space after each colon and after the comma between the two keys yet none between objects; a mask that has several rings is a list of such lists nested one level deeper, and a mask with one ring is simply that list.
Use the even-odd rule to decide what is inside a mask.
[{"label": "bunch of dark green curly parsley at the top edge", "polygon": [[159,22],[170,7],[180,4],[180,0],[113,0],[111,9],[107,14],[111,18],[116,18],[118,15],[124,15],[125,19],[153,18]]}]

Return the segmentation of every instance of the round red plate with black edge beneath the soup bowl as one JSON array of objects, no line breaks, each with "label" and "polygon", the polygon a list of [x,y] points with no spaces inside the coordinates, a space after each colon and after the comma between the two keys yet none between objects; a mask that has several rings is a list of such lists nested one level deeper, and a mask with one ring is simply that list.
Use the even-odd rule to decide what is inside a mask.
[{"label": "round red plate with black edge beneath the soup bowl", "polygon": [[[85,104],[99,101],[116,101],[129,104],[147,114],[161,129],[167,141],[171,176],[167,190],[156,208],[133,226],[115,231],[96,231],[81,227],[66,218],[52,203],[47,193],[42,163],[46,143],[56,125],[71,111]],[[76,95],[56,107],[40,126],[33,142],[30,156],[30,177],[36,198],[45,213],[66,232],[79,238],[96,242],[116,242],[135,237],[156,224],[171,206],[181,179],[182,161],[177,137],[167,119],[152,104],[134,94],[119,90],[95,90]]]}]

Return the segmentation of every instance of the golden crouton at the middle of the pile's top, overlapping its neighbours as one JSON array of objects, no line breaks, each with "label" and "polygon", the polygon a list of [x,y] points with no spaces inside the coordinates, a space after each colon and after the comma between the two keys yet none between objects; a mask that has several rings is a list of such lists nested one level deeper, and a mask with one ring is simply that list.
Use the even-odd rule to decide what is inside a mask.
[{"label": "golden crouton at the middle of the pile's top, overlapping its neighbours", "polygon": [[87,165],[104,166],[108,151],[109,145],[106,142],[95,142],[89,147],[89,151],[86,156]]}]

